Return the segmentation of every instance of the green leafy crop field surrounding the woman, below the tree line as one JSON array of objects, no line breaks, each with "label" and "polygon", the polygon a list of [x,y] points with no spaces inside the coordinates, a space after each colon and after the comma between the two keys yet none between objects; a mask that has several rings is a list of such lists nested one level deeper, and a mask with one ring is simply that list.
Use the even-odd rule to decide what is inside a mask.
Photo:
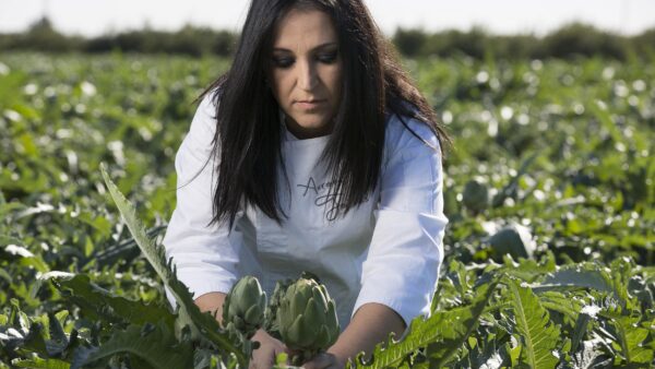
[{"label": "green leafy crop field surrounding the woman, below the tree line", "polygon": [[[653,367],[655,66],[405,64],[455,141],[446,257],[431,318],[350,365]],[[0,368],[246,365],[159,245],[193,100],[227,68],[0,56]]]}]

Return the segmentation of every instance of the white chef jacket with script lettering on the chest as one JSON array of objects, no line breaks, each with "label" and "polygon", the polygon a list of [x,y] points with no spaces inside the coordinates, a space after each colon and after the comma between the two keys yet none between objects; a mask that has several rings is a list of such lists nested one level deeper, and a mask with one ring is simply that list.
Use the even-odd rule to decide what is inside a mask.
[{"label": "white chef jacket with script lettering on the chest", "polygon": [[[216,186],[216,163],[207,163],[215,111],[205,97],[177,152],[177,206],[164,238],[166,258],[172,257],[178,278],[195,298],[228,293],[243,275],[257,276],[270,297],[276,281],[309,271],[334,298],[342,331],[367,302],[390,307],[407,325],[419,314],[429,316],[448,223],[438,151],[413,135],[397,116],[388,116],[374,192],[345,217],[332,219],[334,199],[326,197],[331,177],[317,166],[330,135],[298,140],[286,129],[281,110],[289,181],[279,168],[277,186],[289,218],[281,227],[259,207],[249,206],[237,214],[233,229],[227,224],[207,227]],[[439,147],[424,123],[408,118],[405,122]],[[168,289],[166,294],[175,307]]]}]

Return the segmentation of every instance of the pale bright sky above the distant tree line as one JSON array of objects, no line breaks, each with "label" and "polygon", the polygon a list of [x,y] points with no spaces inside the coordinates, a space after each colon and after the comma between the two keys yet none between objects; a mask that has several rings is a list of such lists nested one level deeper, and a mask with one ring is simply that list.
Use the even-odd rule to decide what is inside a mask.
[{"label": "pale bright sky above the distant tree line", "polygon": [[[544,34],[583,21],[623,34],[655,27],[655,0],[365,0],[382,31],[398,26]],[[47,13],[67,34],[95,36],[141,28],[175,31],[184,24],[239,31],[249,1],[241,0],[0,0],[0,33],[20,32]]]}]

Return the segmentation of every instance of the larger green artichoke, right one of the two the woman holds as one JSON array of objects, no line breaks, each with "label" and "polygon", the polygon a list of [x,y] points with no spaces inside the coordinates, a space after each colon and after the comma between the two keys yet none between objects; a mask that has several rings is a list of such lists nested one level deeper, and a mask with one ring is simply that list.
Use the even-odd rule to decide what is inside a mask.
[{"label": "larger green artichoke, right one of the two the woman holds", "polygon": [[334,300],[325,286],[305,277],[283,295],[277,308],[277,325],[285,345],[298,353],[291,358],[293,364],[301,364],[324,352],[340,334]]}]

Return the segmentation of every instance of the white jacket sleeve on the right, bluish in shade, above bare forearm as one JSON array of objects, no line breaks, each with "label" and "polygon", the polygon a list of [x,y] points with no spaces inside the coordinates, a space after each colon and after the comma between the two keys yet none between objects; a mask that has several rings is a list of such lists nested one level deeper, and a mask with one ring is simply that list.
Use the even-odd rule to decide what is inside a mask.
[{"label": "white jacket sleeve on the right, bluish in shade, above bare forearm", "polygon": [[[405,121],[439,148],[428,127]],[[378,302],[397,312],[408,326],[415,317],[429,316],[443,261],[448,218],[443,214],[441,155],[405,128],[388,139],[394,143],[386,145],[376,225],[353,316],[362,305]]]}]

